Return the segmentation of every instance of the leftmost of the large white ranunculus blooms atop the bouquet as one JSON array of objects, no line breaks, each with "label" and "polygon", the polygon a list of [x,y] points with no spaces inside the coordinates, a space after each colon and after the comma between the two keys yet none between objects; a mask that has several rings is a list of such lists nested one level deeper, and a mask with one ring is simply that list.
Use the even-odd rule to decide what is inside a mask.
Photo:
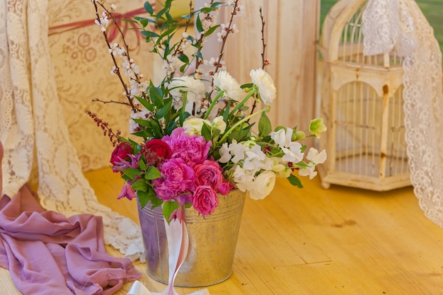
[{"label": "leftmost of the large white ranunculus blooms atop the bouquet", "polygon": [[205,95],[205,84],[201,80],[196,80],[190,76],[175,78],[169,83],[169,93],[176,98],[183,98],[183,92],[187,92],[189,103],[197,101]]}]

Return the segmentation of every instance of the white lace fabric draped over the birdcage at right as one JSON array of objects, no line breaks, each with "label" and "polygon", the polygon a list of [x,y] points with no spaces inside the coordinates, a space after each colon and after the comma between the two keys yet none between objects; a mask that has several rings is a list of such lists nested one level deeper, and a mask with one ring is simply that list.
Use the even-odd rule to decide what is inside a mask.
[{"label": "white lace fabric draped over the birdcage at right", "polygon": [[413,0],[369,0],[362,16],[364,53],[403,57],[405,141],[420,207],[443,227],[442,52]]}]

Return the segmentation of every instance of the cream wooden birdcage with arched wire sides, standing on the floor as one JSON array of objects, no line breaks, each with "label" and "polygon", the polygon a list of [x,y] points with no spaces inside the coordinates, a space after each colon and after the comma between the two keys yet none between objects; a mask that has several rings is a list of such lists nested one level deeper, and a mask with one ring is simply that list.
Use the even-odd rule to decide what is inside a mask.
[{"label": "cream wooden birdcage with arched wire sides, standing on the floor", "polygon": [[323,23],[321,116],[328,127],[319,168],[330,184],[384,191],[410,185],[403,65],[395,51],[363,54],[366,0],[340,0]]}]

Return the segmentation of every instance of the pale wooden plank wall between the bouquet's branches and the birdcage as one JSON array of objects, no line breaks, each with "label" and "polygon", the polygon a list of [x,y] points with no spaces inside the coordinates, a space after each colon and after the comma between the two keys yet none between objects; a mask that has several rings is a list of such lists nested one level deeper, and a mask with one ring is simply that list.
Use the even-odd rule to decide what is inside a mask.
[{"label": "pale wooden plank wall between the bouquet's branches and the birdcage", "polygon": [[[227,42],[226,66],[240,83],[251,81],[251,69],[261,67],[261,20],[265,25],[267,72],[277,87],[272,125],[300,129],[316,116],[316,64],[319,0],[243,0],[245,14],[236,19],[239,33]],[[227,15],[222,16],[227,20]],[[226,21],[227,22],[227,21]]]}]

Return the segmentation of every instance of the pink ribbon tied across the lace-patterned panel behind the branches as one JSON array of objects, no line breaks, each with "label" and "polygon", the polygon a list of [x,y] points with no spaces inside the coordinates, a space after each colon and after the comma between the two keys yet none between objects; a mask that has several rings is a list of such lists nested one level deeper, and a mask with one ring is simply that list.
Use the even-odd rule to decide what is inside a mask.
[{"label": "pink ribbon tied across the lace-patterned panel behind the branches", "polygon": [[[154,7],[154,4],[152,4]],[[117,27],[122,29],[122,32],[125,33],[127,30],[137,29],[137,25],[133,22],[124,21],[125,19],[134,18],[134,16],[139,16],[140,14],[146,13],[144,8],[137,8],[132,11],[127,11],[126,13],[113,13],[113,17],[115,18],[115,23],[111,21],[108,26],[108,39],[110,42],[113,42],[115,38],[118,36],[119,31]],[[64,32],[68,32],[70,30],[76,30],[79,28],[85,28],[89,25],[96,25],[96,19],[89,19],[85,21],[74,21],[73,23],[65,23],[63,25],[54,25],[49,28],[49,35],[60,34]],[[116,25],[117,24],[117,25]],[[137,45],[140,44],[140,36],[137,34]]]}]

